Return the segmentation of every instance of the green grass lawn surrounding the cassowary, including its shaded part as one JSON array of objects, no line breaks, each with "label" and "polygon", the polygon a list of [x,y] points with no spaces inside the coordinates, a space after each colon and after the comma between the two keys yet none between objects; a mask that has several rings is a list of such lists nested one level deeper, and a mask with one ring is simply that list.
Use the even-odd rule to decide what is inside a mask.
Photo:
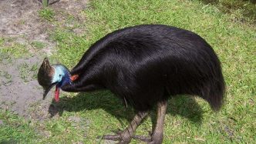
[{"label": "green grass lawn surrounding the cassowary, including its shaded part", "polygon": [[[93,42],[130,25],[165,24],[196,32],[213,46],[221,59],[227,84],[225,104],[216,113],[202,99],[187,96],[170,99],[163,142],[253,143],[256,141],[256,26],[234,19],[235,12],[242,11],[241,8],[228,13],[219,8],[199,0],[94,0],[79,14],[86,16],[84,35],[75,35],[65,27],[52,32],[52,39],[58,43],[59,49],[52,59],[58,59],[71,69]],[[32,125],[33,129],[41,129],[49,136],[37,137],[39,132],[32,132],[23,122],[21,126],[25,126],[32,136],[26,137],[27,132],[18,134],[12,126],[4,136],[13,139],[19,135],[23,142],[29,139],[42,143],[97,143],[97,136],[124,129],[134,115],[133,109],[125,109],[121,100],[108,91],[78,95],[65,93],[60,103],[54,105],[62,116]],[[78,117],[79,122],[70,120],[73,116]],[[155,119],[152,113],[136,134],[147,135]],[[137,142],[140,141],[132,141]]]}]

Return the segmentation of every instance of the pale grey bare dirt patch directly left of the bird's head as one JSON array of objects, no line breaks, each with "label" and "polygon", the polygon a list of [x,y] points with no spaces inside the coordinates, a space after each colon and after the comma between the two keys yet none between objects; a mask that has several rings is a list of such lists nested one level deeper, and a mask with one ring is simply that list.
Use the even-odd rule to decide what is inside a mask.
[{"label": "pale grey bare dirt patch directly left of the bird's head", "polygon": [[[29,59],[12,59],[12,62],[0,64],[1,75],[1,107],[12,109],[20,115],[26,115],[29,103],[37,102],[42,99],[42,89],[36,79],[32,79],[34,72],[29,74],[26,69],[21,69],[21,65],[36,65],[39,62],[38,56]],[[5,64],[4,64],[5,63]],[[21,73],[25,72],[25,75]],[[47,101],[45,101],[47,102]]]}]

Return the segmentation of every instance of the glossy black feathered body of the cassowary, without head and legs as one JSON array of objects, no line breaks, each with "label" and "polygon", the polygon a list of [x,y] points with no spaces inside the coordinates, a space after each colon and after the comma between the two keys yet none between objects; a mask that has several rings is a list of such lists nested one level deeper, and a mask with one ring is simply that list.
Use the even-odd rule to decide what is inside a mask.
[{"label": "glossy black feathered body of the cassowary, without head and legs", "polygon": [[[83,69],[81,69],[83,68]],[[139,25],[93,44],[72,70],[91,76],[136,109],[170,95],[199,95],[218,109],[224,79],[217,55],[194,32],[167,25]]]}]

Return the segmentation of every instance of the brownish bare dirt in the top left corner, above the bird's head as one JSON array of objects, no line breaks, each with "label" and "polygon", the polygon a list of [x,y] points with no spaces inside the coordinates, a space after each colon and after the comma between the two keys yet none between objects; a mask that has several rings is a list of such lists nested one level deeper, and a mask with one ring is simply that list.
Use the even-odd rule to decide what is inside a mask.
[{"label": "brownish bare dirt in the top left corner, above the bird's head", "polygon": [[49,41],[46,31],[52,28],[52,25],[39,18],[38,11],[42,8],[39,1],[1,0],[0,7],[1,37],[12,38],[22,44],[32,41],[43,42],[47,45],[43,51],[51,54],[56,44]]}]

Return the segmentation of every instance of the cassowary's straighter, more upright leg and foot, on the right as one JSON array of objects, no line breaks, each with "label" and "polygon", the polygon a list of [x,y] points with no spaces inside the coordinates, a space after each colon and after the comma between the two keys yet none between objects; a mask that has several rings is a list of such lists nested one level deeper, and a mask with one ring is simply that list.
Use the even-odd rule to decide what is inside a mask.
[{"label": "cassowary's straighter, more upright leg and foot, on the right", "polygon": [[163,123],[167,112],[167,101],[157,102],[157,125],[151,137],[133,136],[134,139],[140,139],[150,144],[158,144],[163,142]]}]

